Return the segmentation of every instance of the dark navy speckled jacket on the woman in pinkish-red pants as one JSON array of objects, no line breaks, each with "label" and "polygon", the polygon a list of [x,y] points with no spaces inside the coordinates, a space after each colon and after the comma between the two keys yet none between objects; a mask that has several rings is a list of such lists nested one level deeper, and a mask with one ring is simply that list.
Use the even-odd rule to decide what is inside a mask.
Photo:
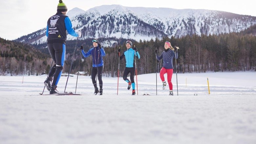
[{"label": "dark navy speckled jacket on the woman in pinkish-red pants", "polygon": [[[173,69],[172,60],[174,57],[174,51],[168,48],[161,53],[160,57],[157,55],[157,60],[160,61],[163,59],[163,67],[166,69]],[[178,59],[178,52],[176,52],[176,59]]]}]

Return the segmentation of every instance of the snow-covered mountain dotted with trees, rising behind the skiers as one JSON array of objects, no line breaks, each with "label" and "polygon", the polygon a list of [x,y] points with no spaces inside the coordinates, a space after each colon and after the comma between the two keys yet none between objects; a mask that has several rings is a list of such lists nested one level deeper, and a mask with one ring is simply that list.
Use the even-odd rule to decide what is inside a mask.
[{"label": "snow-covered mountain dotted with trees, rising behind the skiers", "polygon": [[[205,9],[170,9],[102,5],[87,11],[74,8],[67,15],[81,39],[124,38],[150,40],[192,34],[240,32],[256,24],[256,17]],[[19,42],[44,44],[46,28],[22,36]],[[68,40],[75,37],[68,35]]]}]

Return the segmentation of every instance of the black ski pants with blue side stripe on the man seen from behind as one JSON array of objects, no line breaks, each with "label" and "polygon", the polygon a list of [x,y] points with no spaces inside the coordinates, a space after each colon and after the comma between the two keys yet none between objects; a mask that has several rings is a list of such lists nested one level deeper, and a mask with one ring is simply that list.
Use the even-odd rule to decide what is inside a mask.
[{"label": "black ski pants with blue side stripe on the man seen from behind", "polygon": [[62,74],[66,45],[62,43],[47,44],[50,55],[54,61],[54,65],[50,70],[49,77],[53,78],[53,85],[57,85]]}]

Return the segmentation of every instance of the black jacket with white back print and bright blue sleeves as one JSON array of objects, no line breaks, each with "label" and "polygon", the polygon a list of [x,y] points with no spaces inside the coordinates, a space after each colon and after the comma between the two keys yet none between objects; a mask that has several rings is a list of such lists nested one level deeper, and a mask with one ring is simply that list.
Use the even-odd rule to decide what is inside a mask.
[{"label": "black jacket with white back print and bright blue sleeves", "polygon": [[61,12],[57,12],[55,15],[51,16],[47,21],[46,27],[47,44],[65,44],[67,40],[66,30],[70,35],[78,37],[78,34],[72,28],[72,23],[68,16]]}]

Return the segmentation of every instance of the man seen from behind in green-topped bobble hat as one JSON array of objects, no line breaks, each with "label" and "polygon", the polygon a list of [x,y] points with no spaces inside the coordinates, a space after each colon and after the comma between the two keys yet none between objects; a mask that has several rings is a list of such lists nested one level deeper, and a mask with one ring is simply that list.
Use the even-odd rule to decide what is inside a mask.
[{"label": "man seen from behind in green-topped bobble hat", "polygon": [[81,37],[81,32],[75,32],[72,28],[71,21],[69,17],[66,16],[67,11],[67,6],[62,2],[62,0],[59,0],[57,13],[51,16],[47,21],[47,46],[54,61],[54,65],[49,72],[48,78],[44,81],[44,84],[50,91],[50,94],[59,93],[56,88],[62,74],[65,61],[67,40],[66,31],[74,37]]}]

